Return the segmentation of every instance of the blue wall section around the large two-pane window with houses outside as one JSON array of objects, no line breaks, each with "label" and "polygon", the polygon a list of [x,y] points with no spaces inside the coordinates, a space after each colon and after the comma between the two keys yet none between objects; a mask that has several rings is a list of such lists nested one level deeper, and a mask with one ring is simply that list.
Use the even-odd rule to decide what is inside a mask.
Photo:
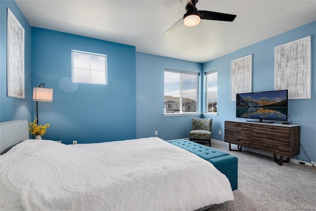
[{"label": "blue wall section around the large two-pane window with houses outside", "polygon": [[165,68],[200,72],[202,64],[136,52],[137,138],[154,137],[155,131],[163,140],[188,138],[192,117],[200,117],[163,116]]}]

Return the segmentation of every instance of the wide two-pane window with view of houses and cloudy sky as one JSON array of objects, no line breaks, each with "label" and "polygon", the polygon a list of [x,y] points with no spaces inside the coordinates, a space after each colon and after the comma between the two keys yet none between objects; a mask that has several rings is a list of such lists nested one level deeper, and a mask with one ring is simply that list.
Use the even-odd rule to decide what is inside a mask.
[{"label": "wide two-pane window with view of houses and cloudy sky", "polygon": [[198,75],[198,72],[164,70],[164,113],[197,112]]}]

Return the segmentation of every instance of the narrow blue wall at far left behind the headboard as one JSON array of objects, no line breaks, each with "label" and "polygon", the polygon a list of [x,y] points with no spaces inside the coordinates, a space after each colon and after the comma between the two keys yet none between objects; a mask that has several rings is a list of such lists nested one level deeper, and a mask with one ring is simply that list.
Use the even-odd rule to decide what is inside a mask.
[{"label": "narrow blue wall at far left behind the headboard", "polygon": [[[6,50],[7,8],[25,30],[25,99],[7,97]],[[14,0],[0,0],[0,121],[31,120],[31,26]]]}]

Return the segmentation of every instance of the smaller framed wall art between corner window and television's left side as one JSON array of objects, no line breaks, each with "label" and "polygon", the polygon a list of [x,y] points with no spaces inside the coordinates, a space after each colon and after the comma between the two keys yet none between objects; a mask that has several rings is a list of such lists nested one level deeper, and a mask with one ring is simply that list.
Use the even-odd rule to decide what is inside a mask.
[{"label": "smaller framed wall art between corner window and television's left side", "polygon": [[252,91],[252,54],[231,62],[231,102],[236,94]]}]

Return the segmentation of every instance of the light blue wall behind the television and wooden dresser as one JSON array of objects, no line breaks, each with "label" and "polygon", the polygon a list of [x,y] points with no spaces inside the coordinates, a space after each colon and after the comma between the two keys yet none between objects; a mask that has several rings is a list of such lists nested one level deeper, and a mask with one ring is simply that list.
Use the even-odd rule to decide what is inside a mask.
[{"label": "light blue wall behind the television and wooden dresser", "polygon": [[[275,86],[275,46],[311,35],[312,99],[289,100],[288,113],[293,124],[301,125],[301,144],[312,161],[316,160],[316,21],[271,37],[203,64],[203,72],[218,70],[218,116],[213,116],[212,138],[224,141],[225,120],[236,118],[236,102],[231,102],[231,61],[252,54],[252,91],[270,91]],[[210,118],[210,117],[207,117]],[[296,157],[295,157],[296,158]],[[309,162],[302,147],[299,160]]]}]

